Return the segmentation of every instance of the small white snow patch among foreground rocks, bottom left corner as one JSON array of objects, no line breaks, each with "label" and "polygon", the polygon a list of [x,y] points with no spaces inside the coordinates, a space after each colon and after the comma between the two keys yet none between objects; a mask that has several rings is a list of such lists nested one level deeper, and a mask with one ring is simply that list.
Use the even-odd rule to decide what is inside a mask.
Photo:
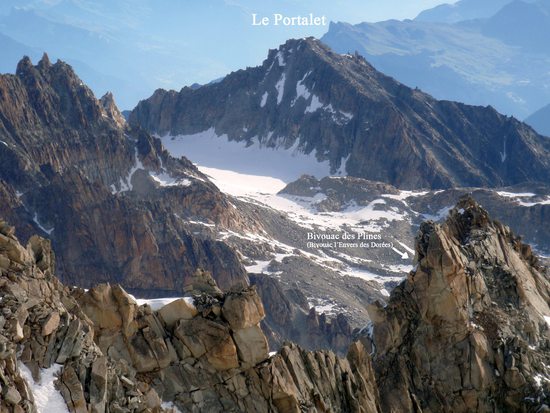
[{"label": "small white snow patch among foreground rocks, bottom left corner", "polygon": [[37,413],[69,413],[61,393],[55,388],[54,381],[63,366],[54,364],[48,369],[40,369],[40,381],[36,383],[32,373],[22,362],[17,363],[21,377],[27,382],[34,397]]}]

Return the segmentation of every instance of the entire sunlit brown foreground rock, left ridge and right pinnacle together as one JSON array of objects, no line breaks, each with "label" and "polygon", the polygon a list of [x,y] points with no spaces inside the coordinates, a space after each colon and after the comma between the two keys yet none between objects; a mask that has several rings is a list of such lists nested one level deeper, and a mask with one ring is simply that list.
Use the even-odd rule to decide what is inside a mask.
[{"label": "entire sunlit brown foreground rock, left ridge and right pinnacle together", "polygon": [[[78,413],[547,412],[550,278],[530,247],[466,197],[421,226],[416,261],[345,358],[269,353],[256,286],[224,293],[198,271],[160,308],[68,288],[49,241],[23,247],[0,221],[0,411],[43,411],[42,378]],[[275,334],[289,312],[269,302]]]}]

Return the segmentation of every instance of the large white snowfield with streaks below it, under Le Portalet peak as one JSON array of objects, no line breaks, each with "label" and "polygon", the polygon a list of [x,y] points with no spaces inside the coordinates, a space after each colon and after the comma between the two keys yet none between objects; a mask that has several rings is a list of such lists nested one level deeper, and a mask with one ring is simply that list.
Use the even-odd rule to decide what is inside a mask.
[{"label": "large white snowfield with streaks below it, under Le Portalet peak", "polygon": [[[298,85],[297,94],[299,98],[310,98],[312,102],[316,102],[315,95],[310,94],[307,88],[301,84]],[[321,107],[322,105],[315,110]],[[325,107],[323,109],[327,110]],[[268,136],[268,140],[271,140],[270,136]],[[350,202],[340,211],[320,212],[316,206],[327,197],[322,192],[318,192],[312,197],[279,194],[288,183],[304,174],[317,178],[331,175],[328,162],[319,162],[313,153],[301,152],[298,140],[289,148],[282,144],[282,140],[280,145],[270,148],[260,144],[257,138],[253,139],[251,144],[230,141],[227,135],[218,136],[214,128],[193,135],[164,136],[161,140],[173,156],[185,156],[194,162],[199,170],[206,174],[222,192],[248,203],[284,212],[290,220],[307,230],[340,232],[345,228],[345,231],[380,233],[388,226],[388,222],[410,218],[406,212],[401,212],[397,208],[385,207],[389,198],[398,199],[406,204],[406,198],[425,193],[403,191],[399,195],[384,195],[366,205]],[[342,164],[345,165],[346,161],[347,159],[343,159]],[[339,174],[342,173],[343,171],[340,170]],[[273,259],[255,260],[253,264],[246,267],[247,271],[252,273],[266,273],[278,277],[280,272],[268,270],[270,263],[273,260],[280,263],[283,258],[294,255],[296,246],[283,244],[265,235],[241,234],[224,230],[218,233],[218,239],[226,240],[230,237],[237,237],[274,245],[284,251],[282,254],[276,254]],[[400,249],[405,248],[408,252],[414,252],[405,244],[399,244],[401,244]],[[381,289],[385,282],[401,281],[412,268],[412,266],[404,264],[383,265],[382,268],[386,272],[394,275],[380,275],[366,269],[369,266],[369,260],[351,257],[341,252],[335,252],[334,257],[326,255],[321,250],[313,254],[300,249],[300,253],[316,264],[336,271],[341,276],[376,281],[381,285]],[[399,254],[404,254],[404,252],[399,251]],[[337,257],[341,257],[341,259]],[[335,269],[330,263],[336,263],[338,269]],[[385,295],[387,290],[384,290],[383,293]]]}]

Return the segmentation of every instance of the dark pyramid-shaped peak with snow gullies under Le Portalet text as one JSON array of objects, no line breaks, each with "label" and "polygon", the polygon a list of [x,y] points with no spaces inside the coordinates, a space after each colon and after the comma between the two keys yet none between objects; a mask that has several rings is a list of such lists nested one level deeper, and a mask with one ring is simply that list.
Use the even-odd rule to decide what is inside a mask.
[{"label": "dark pyramid-shaped peak with snow gullies under Le Portalet text", "polygon": [[157,90],[130,122],[160,135],[298,150],[333,173],[402,188],[550,179],[550,141],[527,125],[490,107],[437,101],[312,38],[217,84]]}]

